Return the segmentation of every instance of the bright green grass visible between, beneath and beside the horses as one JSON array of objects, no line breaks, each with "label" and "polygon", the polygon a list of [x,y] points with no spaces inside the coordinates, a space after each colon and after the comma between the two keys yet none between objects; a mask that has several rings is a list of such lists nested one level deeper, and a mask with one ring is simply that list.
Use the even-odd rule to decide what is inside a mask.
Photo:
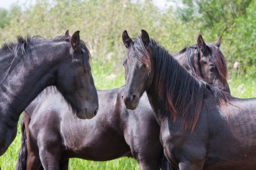
[{"label": "bright green grass visible between, beneath and beside the horses", "polygon": [[[95,62],[95,63],[94,63]],[[123,70],[116,69],[122,67],[121,62],[101,63],[92,62],[92,74],[97,89],[112,89],[125,84],[123,78]],[[118,74],[117,74],[118,73]],[[256,79],[230,79],[229,85],[231,93],[234,97],[256,97]],[[20,125],[18,135],[11,144],[7,153],[0,158],[0,165],[3,170],[12,170],[15,168],[15,162],[18,157],[18,151],[21,144]],[[69,169],[139,169],[134,159],[121,158],[113,161],[95,162],[84,161],[81,159],[71,159],[69,161]]]}]

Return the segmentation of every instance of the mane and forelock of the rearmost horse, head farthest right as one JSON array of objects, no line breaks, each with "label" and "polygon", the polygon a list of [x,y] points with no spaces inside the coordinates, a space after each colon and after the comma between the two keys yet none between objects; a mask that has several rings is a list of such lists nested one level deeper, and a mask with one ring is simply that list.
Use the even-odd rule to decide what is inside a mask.
[{"label": "mane and forelock of the rearmost horse, head farthest right", "polygon": [[[220,48],[218,48],[218,46],[211,43],[206,43],[206,46],[208,48],[208,51],[210,52],[208,57],[210,57],[210,60],[214,63],[214,66],[217,69],[218,75],[220,75],[220,82],[225,85],[228,81],[228,69],[226,67],[224,55],[222,54],[222,51],[220,50]],[[195,50],[197,54],[196,58],[193,57]],[[183,48],[183,50],[181,50],[177,55],[184,52],[187,60],[187,65],[191,70],[193,76],[203,79],[203,75],[201,75],[201,71],[199,70],[199,47],[197,45],[193,45]]]}]

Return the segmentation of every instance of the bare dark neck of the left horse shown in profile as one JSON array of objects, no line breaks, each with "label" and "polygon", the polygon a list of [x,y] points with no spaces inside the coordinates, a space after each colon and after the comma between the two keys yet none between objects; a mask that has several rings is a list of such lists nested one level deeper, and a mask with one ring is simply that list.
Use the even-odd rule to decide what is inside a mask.
[{"label": "bare dark neck of the left horse shown in profile", "polygon": [[39,45],[38,47],[34,46],[30,52],[30,54],[37,55],[22,58],[1,82],[0,116],[5,116],[6,121],[18,122],[18,118],[26,106],[45,87],[55,85],[57,65],[61,62],[61,56],[65,56],[64,53],[67,53],[68,50],[57,50],[57,52],[63,53],[57,54],[55,49],[60,46]]}]

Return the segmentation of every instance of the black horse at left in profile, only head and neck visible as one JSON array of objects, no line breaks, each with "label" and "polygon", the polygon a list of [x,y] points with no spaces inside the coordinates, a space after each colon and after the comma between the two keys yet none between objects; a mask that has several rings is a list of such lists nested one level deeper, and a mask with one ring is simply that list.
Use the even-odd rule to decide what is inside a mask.
[{"label": "black horse at left in profile, only head and neck visible", "polygon": [[90,54],[79,31],[54,39],[18,37],[0,49],[0,156],[16,136],[22,111],[55,85],[79,118],[92,118],[98,96],[90,72]]}]

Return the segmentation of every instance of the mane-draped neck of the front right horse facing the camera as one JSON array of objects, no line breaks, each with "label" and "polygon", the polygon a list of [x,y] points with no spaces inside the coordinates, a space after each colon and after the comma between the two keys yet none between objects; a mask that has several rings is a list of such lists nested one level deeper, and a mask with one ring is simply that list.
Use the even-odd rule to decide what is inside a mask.
[{"label": "mane-draped neck of the front right horse facing the camera", "polygon": [[[162,54],[156,53],[152,57],[154,78],[147,90],[158,123],[161,124],[166,118],[174,121],[183,118],[183,126],[193,128],[201,111],[202,101],[199,100],[203,98],[203,83],[195,80],[170,54]],[[191,121],[186,120],[185,114],[192,111],[196,115]]]}]

